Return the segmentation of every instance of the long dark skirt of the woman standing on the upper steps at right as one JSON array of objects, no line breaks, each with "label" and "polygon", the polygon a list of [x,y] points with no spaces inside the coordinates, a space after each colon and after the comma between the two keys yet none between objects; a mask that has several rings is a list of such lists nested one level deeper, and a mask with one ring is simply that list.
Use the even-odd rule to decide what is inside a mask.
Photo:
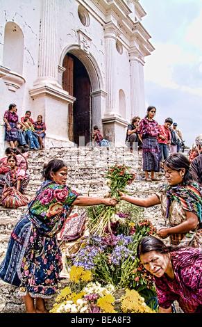
[{"label": "long dark skirt of the woman standing on the upper steps at right", "polygon": [[157,138],[149,137],[143,138],[142,144],[142,158],[144,171],[159,171],[160,157]]}]

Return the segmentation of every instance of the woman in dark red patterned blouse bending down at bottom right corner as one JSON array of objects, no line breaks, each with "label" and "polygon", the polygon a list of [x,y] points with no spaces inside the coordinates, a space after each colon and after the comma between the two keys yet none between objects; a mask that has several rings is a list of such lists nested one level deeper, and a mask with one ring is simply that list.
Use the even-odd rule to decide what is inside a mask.
[{"label": "woman in dark red patterned blouse bending down at bottom right corner", "polygon": [[185,313],[202,313],[201,250],[171,248],[149,236],[138,244],[137,257],[154,276],[159,313],[171,313],[174,301]]}]

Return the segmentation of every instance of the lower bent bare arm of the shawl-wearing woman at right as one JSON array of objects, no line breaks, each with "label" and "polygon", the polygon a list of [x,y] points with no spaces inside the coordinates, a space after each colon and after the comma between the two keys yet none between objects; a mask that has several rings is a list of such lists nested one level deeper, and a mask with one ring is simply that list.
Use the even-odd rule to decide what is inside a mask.
[{"label": "lower bent bare arm of the shawl-wearing woman at right", "polygon": [[193,212],[188,212],[187,210],[186,216],[187,219],[179,225],[176,225],[171,228],[161,228],[157,233],[158,236],[162,237],[162,239],[166,239],[171,234],[185,234],[187,232],[190,232],[190,230],[194,230],[199,223],[199,218],[196,216],[196,214],[194,214]]}]

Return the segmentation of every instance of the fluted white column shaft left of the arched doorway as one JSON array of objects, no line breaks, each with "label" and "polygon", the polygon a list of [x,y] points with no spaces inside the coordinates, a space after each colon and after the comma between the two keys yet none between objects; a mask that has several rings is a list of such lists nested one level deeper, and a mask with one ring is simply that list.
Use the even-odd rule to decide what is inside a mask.
[{"label": "fluted white column shaft left of the arched doorway", "polygon": [[36,83],[51,83],[61,88],[58,83],[58,8],[58,0],[42,0]]}]

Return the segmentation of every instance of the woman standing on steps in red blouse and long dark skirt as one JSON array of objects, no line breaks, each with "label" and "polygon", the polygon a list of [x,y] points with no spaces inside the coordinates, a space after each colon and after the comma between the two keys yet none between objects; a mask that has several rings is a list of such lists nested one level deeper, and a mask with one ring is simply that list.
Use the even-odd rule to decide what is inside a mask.
[{"label": "woman standing on steps in red blouse and long dark skirt", "polygon": [[[137,134],[142,142],[143,170],[147,182],[156,180],[154,173],[160,170],[160,151],[158,147],[160,129],[158,122],[153,119],[155,112],[155,107],[149,106],[146,117],[141,120],[137,130]],[[148,172],[151,172],[151,178]]]}]

